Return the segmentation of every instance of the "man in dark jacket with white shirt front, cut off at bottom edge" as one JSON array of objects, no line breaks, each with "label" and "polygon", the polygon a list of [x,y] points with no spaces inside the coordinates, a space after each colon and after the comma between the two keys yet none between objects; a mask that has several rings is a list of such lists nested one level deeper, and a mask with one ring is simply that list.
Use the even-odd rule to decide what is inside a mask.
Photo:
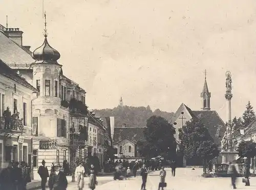
[{"label": "man in dark jacket with white shirt front, cut off at bottom edge", "polygon": [[48,185],[50,190],[66,190],[68,186],[67,177],[64,172],[59,171],[60,164],[54,164],[54,171],[50,174]]}]

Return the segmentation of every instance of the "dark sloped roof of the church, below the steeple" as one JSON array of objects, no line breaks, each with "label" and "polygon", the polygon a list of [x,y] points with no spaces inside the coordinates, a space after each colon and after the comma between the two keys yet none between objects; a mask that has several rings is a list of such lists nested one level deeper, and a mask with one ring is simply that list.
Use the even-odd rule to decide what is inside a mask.
[{"label": "dark sloped roof of the church, below the steeple", "polygon": [[219,114],[214,110],[193,111],[193,114],[208,128],[210,135],[214,138],[214,142],[220,144],[225,133],[225,124]]}]

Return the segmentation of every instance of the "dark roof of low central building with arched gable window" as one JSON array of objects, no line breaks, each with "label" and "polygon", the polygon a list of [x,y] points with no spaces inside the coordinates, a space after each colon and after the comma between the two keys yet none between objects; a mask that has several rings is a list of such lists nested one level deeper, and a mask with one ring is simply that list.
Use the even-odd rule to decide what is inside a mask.
[{"label": "dark roof of low central building with arched gable window", "polygon": [[137,144],[138,141],[144,140],[144,132],[147,127],[115,127],[113,144],[121,140],[127,139]]}]

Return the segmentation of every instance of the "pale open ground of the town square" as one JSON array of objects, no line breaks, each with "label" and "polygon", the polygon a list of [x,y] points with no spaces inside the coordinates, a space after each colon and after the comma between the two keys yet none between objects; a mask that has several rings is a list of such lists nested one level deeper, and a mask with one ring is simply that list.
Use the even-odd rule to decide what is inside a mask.
[{"label": "pale open ground of the town square", "polygon": [[[166,182],[167,187],[165,190],[217,190],[217,189],[231,189],[230,178],[202,178],[202,169],[196,168],[194,171],[191,168],[178,168],[176,171],[176,176],[172,177],[171,171],[169,168],[166,169]],[[111,177],[101,177],[108,178],[111,180]],[[87,180],[87,179],[86,179]],[[237,180],[237,189],[255,189],[256,187],[256,178],[250,179],[251,186],[244,186],[242,183],[242,178]],[[159,171],[152,172],[148,175],[146,189],[147,190],[157,190],[159,183]],[[99,183],[100,184],[100,183]],[[129,180],[123,181],[110,181],[104,184],[96,186],[97,190],[136,190],[140,189],[141,177],[137,176],[136,178],[131,178]],[[77,189],[75,183],[69,183],[69,190]],[[87,181],[84,188],[88,190]]]}]

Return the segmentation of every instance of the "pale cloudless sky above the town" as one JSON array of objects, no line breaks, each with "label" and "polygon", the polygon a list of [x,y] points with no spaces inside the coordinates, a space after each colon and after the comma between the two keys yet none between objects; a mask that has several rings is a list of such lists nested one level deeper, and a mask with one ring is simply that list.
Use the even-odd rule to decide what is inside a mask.
[{"label": "pale cloudless sky above the town", "polygon": [[[1,0],[0,23],[20,28],[33,51],[44,41],[42,0]],[[89,109],[202,108],[207,70],[211,110],[226,121],[225,72],[232,74],[232,117],[256,106],[256,1],[44,0],[48,41],[63,74],[87,91]],[[256,109],[256,108],[255,108]]]}]

